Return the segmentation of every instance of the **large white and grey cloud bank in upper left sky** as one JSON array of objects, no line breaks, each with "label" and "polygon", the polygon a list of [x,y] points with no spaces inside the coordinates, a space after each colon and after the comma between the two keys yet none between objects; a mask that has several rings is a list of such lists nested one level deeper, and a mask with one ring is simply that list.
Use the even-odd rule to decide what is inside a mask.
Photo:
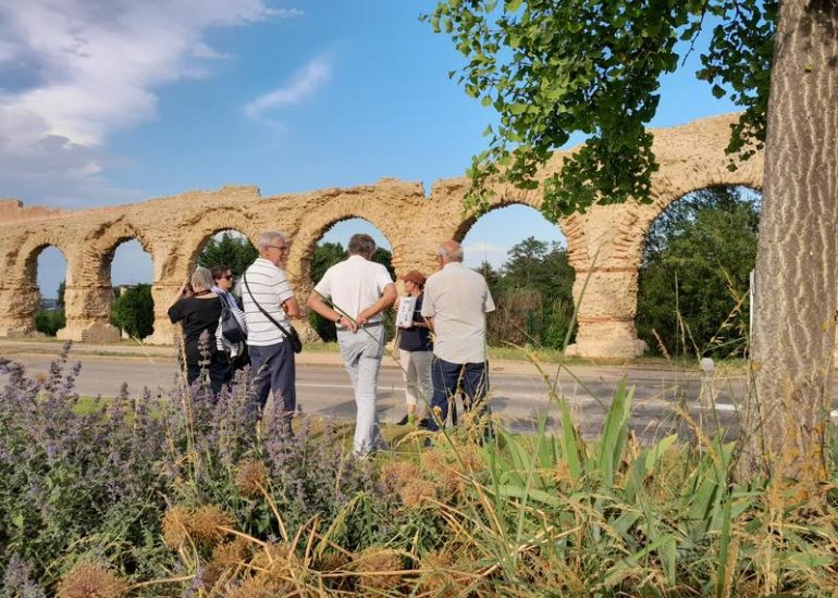
[{"label": "large white and grey cloud bank in upper left sky", "polygon": [[300,14],[266,0],[0,0],[0,196],[110,197],[108,136],[155,119],[161,84],[229,58],[210,28]]}]

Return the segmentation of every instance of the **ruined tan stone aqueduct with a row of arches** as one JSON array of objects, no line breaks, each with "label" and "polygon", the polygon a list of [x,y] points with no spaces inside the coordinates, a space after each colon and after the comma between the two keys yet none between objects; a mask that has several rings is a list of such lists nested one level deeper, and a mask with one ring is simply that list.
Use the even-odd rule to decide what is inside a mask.
[{"label": "ruined tan stone aqueduct with a row of arches", "polygon": [[[653,202],[593,207],[560,221],[570,264],[576,270],[574,297],[579,307],[576,354],[631,358],[642,350],[637,338],[638,266],[646,231],[670,202],[710,185],[762,186],[763,159],[757,154],[736,172],[727,167],[724,148],[735,115],[657,129],[654,151],[661,170],[653,180]],[[544,169],[560,165],[562,154]],[[289,233],[293,247],[287,270],[298,297],[311,290],[310,258],[315,245],[333,224],[361,217],[390,240],[393,266],[402,274],[435,267],[439,241],[463,239],[477,220],[464,215],[467,179],[433,184],[430,198],[421,184],[382,179],[374,185],[325,189],[262,198],[256,187],[224,187],[189,191],[141,203],[78,211],[26,208],[0,201],[0,336],[34,332],[39,303],[37,257],[47,246],[60,249],[67,262],[66,327],[59,337],[102,341],[119,337],[110,323],[110,265],[115,248],[137,239],[153,260],[155,333],[147,342],[171,344],[173,327],[165,306],[195,266],[209,238],[225,229],[244,233],[256,242],[264,229]],[[539,208],[541,190],[495,189],[493,208],[521,203]],[[582,292],[584,290],[584,292]]]}]

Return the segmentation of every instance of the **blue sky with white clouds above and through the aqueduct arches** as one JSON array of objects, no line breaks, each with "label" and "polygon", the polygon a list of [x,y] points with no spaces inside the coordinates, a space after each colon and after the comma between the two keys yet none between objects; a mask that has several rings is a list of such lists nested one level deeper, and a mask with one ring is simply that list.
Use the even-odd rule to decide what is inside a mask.
[{"label": "blue sky with white clouds above and through the aqueduct arches", "polygon": [[[433,5],[0,0],[0,197],[78,209],[385,176],[430,189],[464,173],[496,120],[448,78],[463,59],[419,22]],[[694,79],[697,60],[662,82],[653,126],[734,109]],[[328,240],[356,229],[338,225]],[[532,210],[493,212],[466,237],[467,258],[501,263],[529,235],[562,238]],[[45,296],[62,278],[57,253],[39,260]],[[140,253],[118,250],[114,283],[150,279]]]}]

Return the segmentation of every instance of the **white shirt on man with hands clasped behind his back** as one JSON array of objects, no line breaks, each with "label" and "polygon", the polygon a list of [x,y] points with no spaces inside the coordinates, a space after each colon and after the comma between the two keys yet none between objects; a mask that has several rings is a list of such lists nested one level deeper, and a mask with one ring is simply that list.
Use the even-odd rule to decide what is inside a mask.
[{"label": "white shirt on man with hands clasped behind his back", "polygon": [[[355,319],[378,301],[384,287],[392,284],[386,267],[360,256],[349,256],[326,270],[315,290],[331,300],[338,312]],[[381,313],[372,316],[370,322],[381,322]]]}]

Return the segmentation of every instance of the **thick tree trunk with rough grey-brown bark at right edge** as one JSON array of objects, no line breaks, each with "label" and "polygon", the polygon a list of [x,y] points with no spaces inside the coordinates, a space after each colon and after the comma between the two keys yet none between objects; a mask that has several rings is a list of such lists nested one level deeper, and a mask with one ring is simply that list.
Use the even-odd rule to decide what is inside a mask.
[{"label": "thick tree trunk with rough grey-brown bark at right edge", "polygon": [[838,294],[838,0],[781,0],[756,256],[753,365],[740,473],[806,486],[824,437]]}]

